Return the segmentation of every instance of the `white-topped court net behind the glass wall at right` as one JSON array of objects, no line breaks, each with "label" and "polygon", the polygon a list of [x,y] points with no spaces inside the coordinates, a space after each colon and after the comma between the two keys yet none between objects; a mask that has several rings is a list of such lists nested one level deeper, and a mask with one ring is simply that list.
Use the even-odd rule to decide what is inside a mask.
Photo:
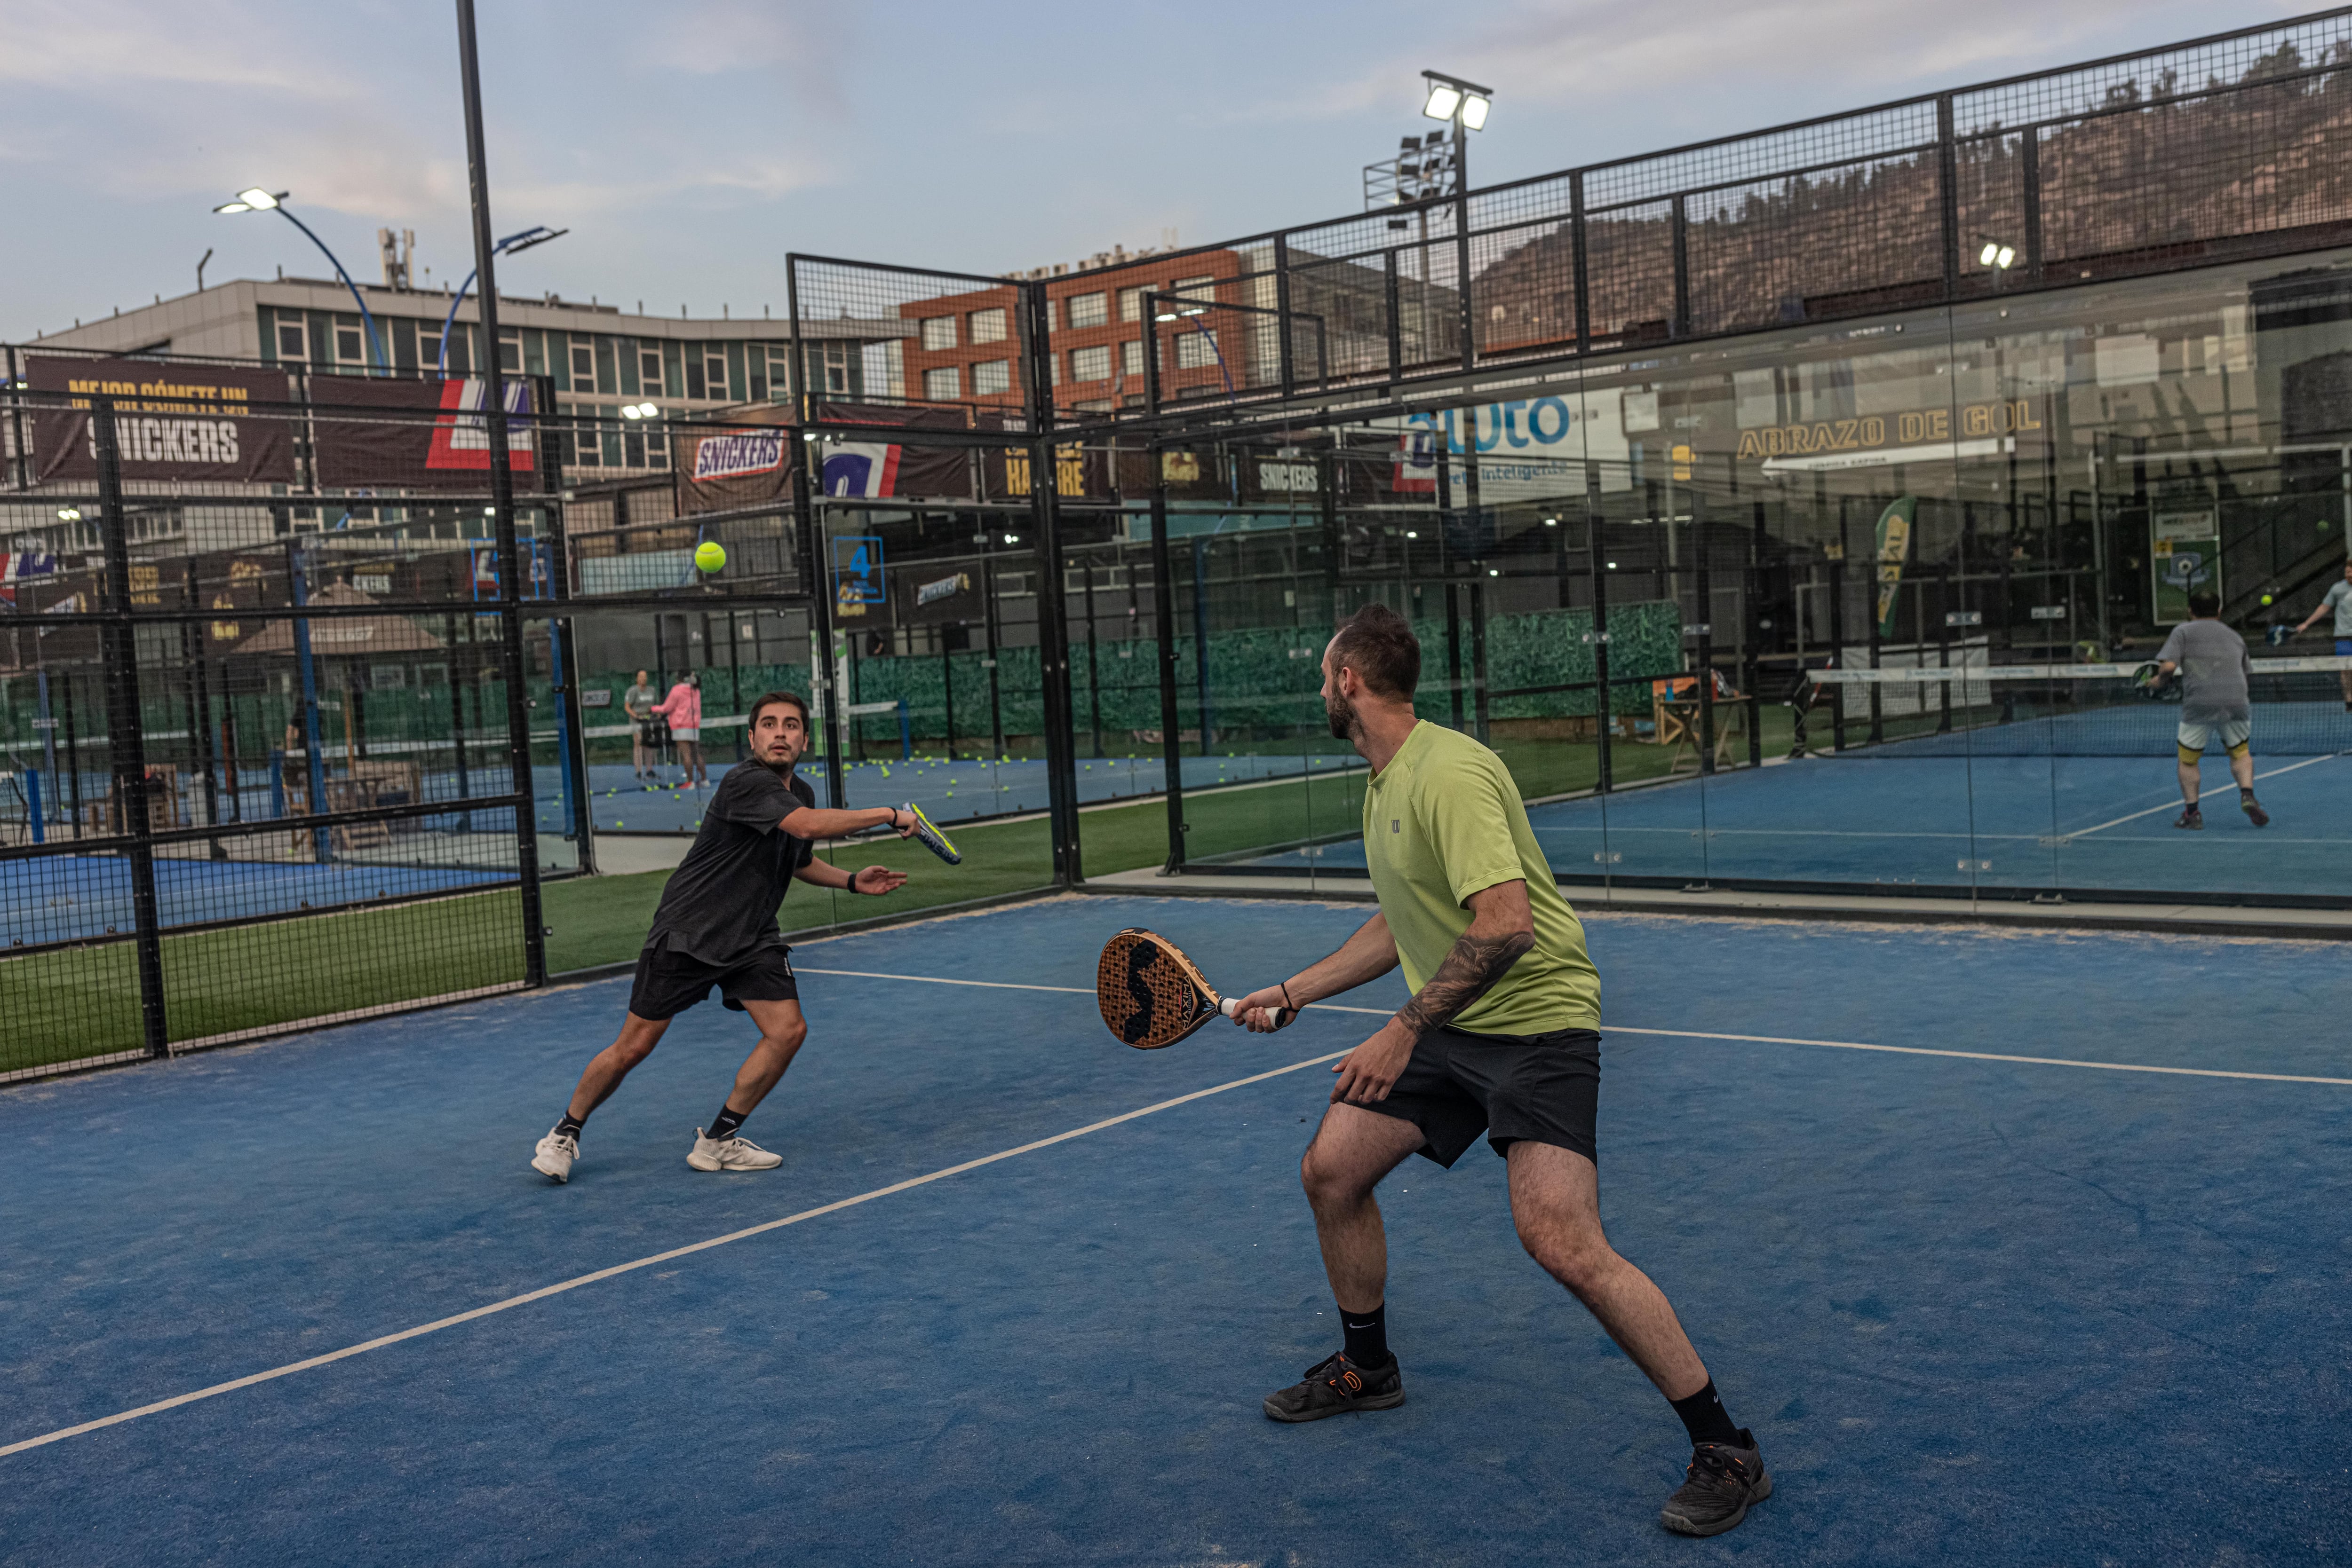
[{"label": "white-topped court net behind the glass wall at right", "polygon": [[[1813,755],[1882,757],[2171,757],[2180,684],[2150,696],[2145,668],[1811,670],[1797,696],[1799,745]],[[2345,668],[2352,658],[2256,658],[2249,679],[2256,755],[2352,752]],[[2218,755],[2220,741],[2211,738],[2209,750]]]}]

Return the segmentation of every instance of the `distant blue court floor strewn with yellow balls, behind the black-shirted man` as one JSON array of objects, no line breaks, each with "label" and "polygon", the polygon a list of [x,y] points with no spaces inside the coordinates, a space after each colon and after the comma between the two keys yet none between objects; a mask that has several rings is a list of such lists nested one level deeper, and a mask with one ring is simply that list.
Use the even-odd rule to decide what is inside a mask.
[{"label": "distant blue court floor strewn with yellow balls, behind the black-shirted man", "polygon": [[[588,769],[590,816],[597,832],[694,832],[703,818],[703,804],[720,776],[734,766],[731,752],[708,766],[710,780],[701,788],[680,783],[680,769],[661,769],[661,783],[647,788],[633,778],[630,769],[600,762]],[[1298,778],[1303,773],[1362,771],[1355,755],[1291,752],[1291,755],[1225,755],[1185,757],[1183,783],[1188,790],[1209,790],[1258,778]],[[800,764],[818,799],[826,790],[823,759]],[[896,806],[908,799],[920,804],[934,820],[948,823],[971,816],[1009,816],[1016,811],[1047,809],[1044,759],[962,759],[913,757],[849,762],[842,766],[842,785],[849,806]],[[1080,757],[1077,799],[1096,804],[1157,795],[1167,788],[1167,766],[1160,757]],[[539,769],[539,820],[550,827],[560,820],[555,769]]]}]

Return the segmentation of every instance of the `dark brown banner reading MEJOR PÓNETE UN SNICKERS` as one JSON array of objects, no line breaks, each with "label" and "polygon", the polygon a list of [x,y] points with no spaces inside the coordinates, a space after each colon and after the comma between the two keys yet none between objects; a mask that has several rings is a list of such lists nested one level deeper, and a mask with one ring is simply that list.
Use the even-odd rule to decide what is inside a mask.
[{"label": "dark brown banner reading MEJOR P\u00d3NETE UN SNICKERS", "polygon": [[254,404],[287,402],[285,371],[28,355],[26,383],[73,400],[33,411],[33,473],[42,482],[99,477],[92,397],[115,400],[125,480],[294,482],[292,423],[282,409],[254,414]]}]

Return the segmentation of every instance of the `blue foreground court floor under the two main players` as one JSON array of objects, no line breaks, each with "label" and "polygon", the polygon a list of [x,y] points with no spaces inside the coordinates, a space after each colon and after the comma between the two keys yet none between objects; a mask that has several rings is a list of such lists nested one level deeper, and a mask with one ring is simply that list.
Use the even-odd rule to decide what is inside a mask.
[{"label": "blue foreground court floor under the two main players", "polygon": [[1338,1345],[1296,1161],[1378,1020],[1138,1053],[1096,950],[1148,924],[1242,990],[1362,919],[809,943],[755,1175],[684,1164],[750,1044],[717,1006],[572,1185],[527,1168],[626,980],[5,1091],[0,1559],[2352,1556],[2343,947],[1595,914],[1602,1211],[1778,1483],[1691,1542],[1679,1425],[1484,1147],[1383,1185],[1409,1403],[1258,1413]]}]

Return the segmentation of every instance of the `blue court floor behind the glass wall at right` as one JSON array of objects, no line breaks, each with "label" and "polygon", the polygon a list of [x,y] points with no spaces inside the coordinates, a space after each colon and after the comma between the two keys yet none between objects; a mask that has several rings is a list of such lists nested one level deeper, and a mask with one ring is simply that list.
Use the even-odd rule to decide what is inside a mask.
[{"label": "blue court floor behind the glass wall at right", "polygon": [[[1689,882],[2063,886],[2352,896],[2352,755],[2256,757],[2270,827],[2204,766],[2201,832],[2173,827],[2169,757],[1809,757],[1529,809],[1552,870]],[[1249,865],[1364,865],[1362,839]]]}]

